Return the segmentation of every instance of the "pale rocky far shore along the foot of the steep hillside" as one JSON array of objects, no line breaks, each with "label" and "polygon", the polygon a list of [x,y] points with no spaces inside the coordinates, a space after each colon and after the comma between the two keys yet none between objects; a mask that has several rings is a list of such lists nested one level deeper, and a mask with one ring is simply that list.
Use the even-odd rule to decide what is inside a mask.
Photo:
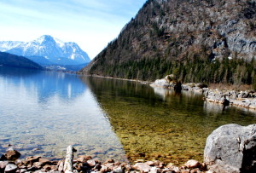
[{"label": "pale rocky far shore along the foot of the steep hillside", "polygon": [[[84,75],[84,74],[78,74],[78,75],[138,82],[141,84],[148,84],[153,88],[158,87],[158,88],[164,88],[164,89],[173,89],[172,84],[162,83],[163,80],[166,80],[166,78],[158,79],[155,82],[150,82],[150,81],[143,81],[143,80],[136,80],[136,79],[104,77],[100,75]],[[210,88],[204,88],[201,86],[205,86],[205,85],[196,84],[196,83],[182,84],[182,87],[183,87],[182,90],[200,93],[204,95],[203,99],[205,101],[212,102],[214,104],[224,105],[225,107],[234,106],[234,107],[246,108],[249,110],[256,111],[256,92],[253,92],[252,90],[236,91],[235,89],[210,89]],[[226,105],[227,103],[228,105]]]}]

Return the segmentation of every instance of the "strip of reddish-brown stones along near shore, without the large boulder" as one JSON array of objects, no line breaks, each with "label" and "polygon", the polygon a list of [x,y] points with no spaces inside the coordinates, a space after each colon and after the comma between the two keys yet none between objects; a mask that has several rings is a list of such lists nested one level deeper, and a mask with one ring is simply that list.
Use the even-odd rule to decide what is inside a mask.
[{"label": "strip of reddish-brown stones along near shore, without the large boulder", "polygon": [[71,170],[67,170],[67,157],[61,160],[49,160],[42,159],[39,156],[27,157],[26,159],[18,159],[20,153],[12,148],[3,154],[0,161],[0,172],[4,173],[28,173],[28,172],[113,172],[113,173],[123,173],[123,172],[150,172],[150,173],[160,173],[160,172],[173,172],[173,173],[200,173],[207,172],[212,173],[211,170],[207,170],[207,165],[204,163],[199,163],[196,160],[189,160],[183,166],[176,166],[173,164],[164,164],[158,160],[147,161],[137,160],[136,164],[130,163],[120,163],[115,162],[113,159],[108,159],[106,162],[102,163],[97,159],[92,159],[92,157],[87,155],[79,155],[78,158],[71,159],[72,162]]}]

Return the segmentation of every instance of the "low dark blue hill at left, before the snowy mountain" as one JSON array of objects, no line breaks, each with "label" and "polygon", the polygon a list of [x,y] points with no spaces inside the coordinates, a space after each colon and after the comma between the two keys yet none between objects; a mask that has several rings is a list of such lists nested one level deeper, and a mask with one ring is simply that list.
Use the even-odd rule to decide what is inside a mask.
[{"label": "low dark blue hill at left, before the snowy mountain", "polygon": [[0,52],[0,66],[14,66],[19,68],[31,68],[42,70],[43,67],[37,63],[30,61],[22,56],[11,55],[9,53]]}]

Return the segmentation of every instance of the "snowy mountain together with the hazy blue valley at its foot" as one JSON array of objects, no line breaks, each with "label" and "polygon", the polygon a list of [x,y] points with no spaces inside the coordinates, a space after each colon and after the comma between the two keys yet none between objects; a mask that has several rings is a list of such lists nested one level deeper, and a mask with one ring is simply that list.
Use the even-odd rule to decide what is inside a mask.
[{"label": "snowy mountain together with the hazy blue valley at its foot", "polygon": [[78,71],[90,62],[77,43],[44,35],[31,42],[1,41],[0,51],[24,56],[49,70]]}]

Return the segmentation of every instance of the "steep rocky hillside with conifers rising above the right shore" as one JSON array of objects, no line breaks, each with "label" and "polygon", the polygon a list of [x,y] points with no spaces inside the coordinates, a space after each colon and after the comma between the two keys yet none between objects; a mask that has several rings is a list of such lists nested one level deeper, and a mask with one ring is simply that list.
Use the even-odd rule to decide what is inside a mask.
[{"label": "steep rocky hillside with conifers rising above the right shore", "polygon": [[148,0],[80,73],[252,84],[253,58],[255,0]]}]

